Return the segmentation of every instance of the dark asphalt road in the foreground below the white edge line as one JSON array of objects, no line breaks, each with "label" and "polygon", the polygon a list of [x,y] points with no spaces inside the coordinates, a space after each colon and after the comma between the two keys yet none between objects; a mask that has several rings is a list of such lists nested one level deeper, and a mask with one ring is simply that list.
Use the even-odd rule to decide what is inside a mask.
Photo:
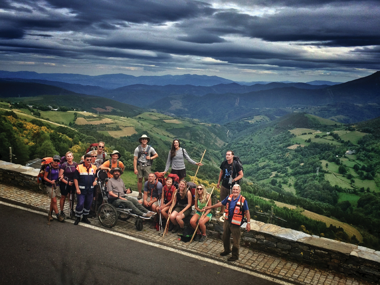
[{"label": "dark asphalt road in the foreground below the white edge line", "polygon": [[0,204],[0,284],[275,285],[159,247]]}]

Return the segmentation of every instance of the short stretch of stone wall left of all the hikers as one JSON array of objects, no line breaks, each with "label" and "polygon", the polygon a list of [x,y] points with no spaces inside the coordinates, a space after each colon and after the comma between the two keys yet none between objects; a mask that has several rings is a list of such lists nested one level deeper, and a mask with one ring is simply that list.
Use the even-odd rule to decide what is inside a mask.
[{"label": "short stretch of stone wall left of all the hikers", "polygon": [[37,175],[39,173],[39,169],[0,160],[0,183],[44,192],[37,184]]}]

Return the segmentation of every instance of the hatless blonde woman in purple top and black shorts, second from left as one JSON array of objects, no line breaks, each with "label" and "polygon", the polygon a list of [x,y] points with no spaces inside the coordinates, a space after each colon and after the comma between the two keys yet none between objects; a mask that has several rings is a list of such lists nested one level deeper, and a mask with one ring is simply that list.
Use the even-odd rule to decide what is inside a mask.
[{"label": "hatless blonde woman in purple top and black shorts, second from left", "polygon": [[[66,161],[60,165],[59,169],[59,181],[61,190],[61,199],[59,200],[59,208],[61,210],[60,215],[66,218],[65,213],[63,213],[63,207],[65,206],[66,196],[70,199],[70,194],[75,195],[75,185],[74,185],[74,173],[78,164],[73,161],[74,155],[71,151],[67,151],[65,154]],[[71,209],[70,209],[71,210]]]}]

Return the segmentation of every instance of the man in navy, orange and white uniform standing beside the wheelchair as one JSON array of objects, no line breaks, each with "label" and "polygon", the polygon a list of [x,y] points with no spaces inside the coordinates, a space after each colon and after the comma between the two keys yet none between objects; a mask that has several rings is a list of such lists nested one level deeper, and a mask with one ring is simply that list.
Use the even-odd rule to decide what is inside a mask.
[{"label": "man in navy, orange and white uniform standing beside the wheelchair", "polygon": [[90,224],[87,215],[93,202],[93,192],[96,185],[96,166],[91,164],[91,154],[86,153],[84,163],[79,164],[74,173],[74,185],[77,190],[77,206],[75,216],[77,220],[74,225],[78,225],[83,214],[82,222]]}]

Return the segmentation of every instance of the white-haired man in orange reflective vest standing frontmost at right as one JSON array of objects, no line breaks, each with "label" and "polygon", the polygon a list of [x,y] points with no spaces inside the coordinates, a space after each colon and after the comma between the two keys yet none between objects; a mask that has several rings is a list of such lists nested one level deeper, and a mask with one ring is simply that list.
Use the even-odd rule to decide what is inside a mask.
[{"label": "white-haired man in orange reflective vest standing frontmost at right", "polygon": [[[228,255],[232,252],[228,261],[236,261],[239,259],[239,246],[240,246],[240,226],[243,224],[244,215],[247,217],[246,230],[251,230],[251,216],[248,210],[246,199],[240,195],[240,185],[235,184],[232,188],[232,194],[227,196],[222,202],[212,206],[203,207],[203,211],[211,208],[218,208],[226,206],[225,220],[223,224],[223,246],[224,251],[220,253],[221,256]],[[233,238],[233,245],[231,250],[231,234]]]}]

